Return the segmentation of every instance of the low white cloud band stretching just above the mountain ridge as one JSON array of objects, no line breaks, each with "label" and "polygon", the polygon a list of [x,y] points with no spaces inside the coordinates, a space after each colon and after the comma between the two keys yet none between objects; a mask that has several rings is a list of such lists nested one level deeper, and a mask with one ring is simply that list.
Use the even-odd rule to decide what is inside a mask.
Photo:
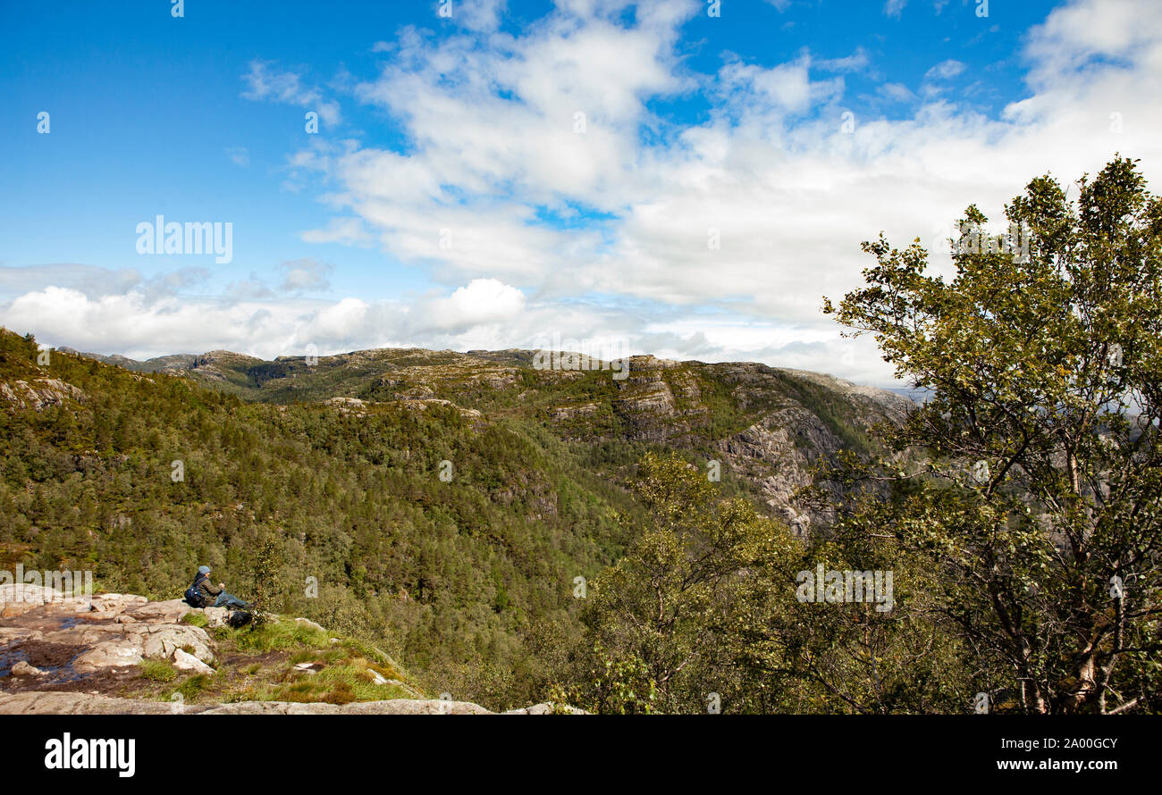
[{"label": "low white cloud band stretching just above the mountain ridge", "polygon": [[874,345],[840,339],[834,328],[804,334],[725,313],[708,318],[660,308],[630,312],[597,303],[530,301],[496,280],[474,280],[447,295],[380,302],[273,301],[260,284],[256,294],[238,287],[228,291],[230,299],[151,298],[141,291],[89,297],[49,287],[5,304],[2,317],[14,331],[36,330],[41,342],[134,359],[221,348],[265,359],[372,347],[536,349],[558,341],[595,353],[770,361],[812,370],[833,361],[856,381],[880,375]]}]

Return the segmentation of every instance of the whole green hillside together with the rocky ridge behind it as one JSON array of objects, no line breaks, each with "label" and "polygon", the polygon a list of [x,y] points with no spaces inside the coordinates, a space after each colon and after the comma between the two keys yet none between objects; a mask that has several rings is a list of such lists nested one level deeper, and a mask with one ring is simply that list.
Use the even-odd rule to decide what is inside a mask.
[{"label": "whole green hillside together with the rocky ridge behind it", "polygon": [[720,460],[723,493],[789,513],[812,461],[901,405],[648,357],[622,382],[519,352],[117,362],[144,371],[43,355],[0,334],[0,565],[159,598],[200,563],[243,593],[273,572],[271,604],[494,707],[539,696],[576,642],[575,578],[644,525],[626,483],[645,451]]}]

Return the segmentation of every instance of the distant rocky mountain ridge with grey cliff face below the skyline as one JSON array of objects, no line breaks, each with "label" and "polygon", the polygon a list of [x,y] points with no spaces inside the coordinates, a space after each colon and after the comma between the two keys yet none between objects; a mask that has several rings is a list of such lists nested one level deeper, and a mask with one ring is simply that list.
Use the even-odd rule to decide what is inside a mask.
[{"label": "distant rocky mountain ridge with grey cliff face below the skyline", "polygon": [[819,519],[792,505],[795,491],[810,483],[811,468],[841,449],[870,454],[871,426],[901,422],[916,405],[890,390],[759,362],[634,355],[624,360],[627,374],[618,378],[601,369],[600,360],[568,352],[553,361],[576,369],[537,368],[538,354],[546,359],[523,348],[367,348],[273,360],[211,350],[108,363],[191,377],[259,403],[328,403],[366,412],[444,402],[473,417],[531,414],[566,441],[673,445],[743,475],[753,496],[799,533]]}]

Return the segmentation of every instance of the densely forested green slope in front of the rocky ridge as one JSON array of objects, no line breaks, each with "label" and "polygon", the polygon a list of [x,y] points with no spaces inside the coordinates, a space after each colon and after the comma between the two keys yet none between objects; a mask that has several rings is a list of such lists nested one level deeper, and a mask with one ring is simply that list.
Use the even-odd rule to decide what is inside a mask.
[{"label": "densely forested green slope in front of the rocky ridge", "polygon": [[[633,511],[625,494],[532,424],[248,404],[59,352],[38,368],[35,344],[7,332],[0,346],[16,397],[0,412],[8,570],[92,569],[99,587],[172,597],[208,563],[250,593],[270,541],[280,606],[487,696],[507,686],[493,671],[537,681],[526,644],[569,624],[573,578],[625,542],[612,521]],[[43,403],[20,400],[21,382]]]}]

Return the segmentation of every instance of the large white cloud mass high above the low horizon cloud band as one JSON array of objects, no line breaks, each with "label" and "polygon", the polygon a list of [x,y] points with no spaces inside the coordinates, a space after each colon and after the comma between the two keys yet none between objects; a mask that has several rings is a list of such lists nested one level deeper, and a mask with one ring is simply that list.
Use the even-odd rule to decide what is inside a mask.
[{"label": "large white cloud mass high above the low horizon cloud band", "polygon": [[[867,265],[859,244],[880,230],[898,243],[923,238],[938,247],[935,263],[947,266],[939,246],[969,202],[996,215],[1033,175],[1073,179],[1118,149],[1162,153],[1150,137],[1162,121],[1156,108],[1120,138],[1104,130],[1111,97],[1139,110],[1141,94],[1135,101],[1127,93],[1143,79],[1156,85],[1153,50],[1139,48],[1131,71],[1095,64],[1042,77],[1042,53],[1082,35],[1079,23],[1052,15],[1026,53],[1043,95],[1000,120],[928,94],[911,118],[860,120],[847,135],[841,78],[812,72],[862,68],[866,53],[841,64],[799,53],[770,67],[734,58],[709,84],[717,101],[709,121],[645,145],[637,130],[653,121],[643,97],[680,91],[686,80],[673,46],[681,19],[626,30],[562,15],[525,38],[482,48],[415,31],[401,37],[400,58],[360,92],[402,118],[417,145],[407,156],[345,156],[338,173],[347,209],[382,230],[393,254],[428,262],[442,279],[497,277],[557,297],[593,291],[675,308],[729,305],[756,327],[796,327],[806,339],[833,330],[819,315],[820,297],[859,283]],[[1157,20],[1155,12],[1133,30],[1122,24],[1120,38],[1105,32],[1078,43],[1099,51],[1118,41],[1156,46]],[[596,70],[604,93],[594,101],[591,75],[573,65],[610,63],[622,68]],[[949,59],[928,77],[961,71]],[[1100,89],[1098,77],[1107,84]],[[894,102],[917,99],[901,84],[880,92]],[[579,136],[569,124],[580,107],[598,110]],[[450,117],[454,129],[444,123]],[[1078,140],[1068,132],[1078,123],[1104,135]],[[612,218],[586,232],[538,223],[535,207],[566,202]],[[438,246],[442,229],[452,232],[446,250]],[[719,251],[708,248],[711,230]],[[851,369],[827,360],[817,367]],[[881,367],[881,380],[885,373]]]}]

